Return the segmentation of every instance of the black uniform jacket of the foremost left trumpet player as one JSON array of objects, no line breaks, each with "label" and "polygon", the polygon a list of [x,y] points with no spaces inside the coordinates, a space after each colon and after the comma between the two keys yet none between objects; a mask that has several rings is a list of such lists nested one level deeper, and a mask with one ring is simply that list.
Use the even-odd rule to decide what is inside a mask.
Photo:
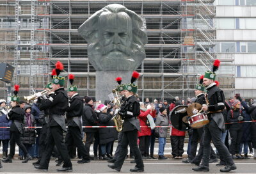
[{"label": "black uniform jacket of the foremost left trumpet player", "polygon": [[41,100],[39,103],[41,103],[40,109],[45,110],[49,108],[49,125],[57,126],[59,124],[51,118],[51,115],[65,115],[65,111],[68,108],[68,96],[64,88],[59,88],[49,99]]}]

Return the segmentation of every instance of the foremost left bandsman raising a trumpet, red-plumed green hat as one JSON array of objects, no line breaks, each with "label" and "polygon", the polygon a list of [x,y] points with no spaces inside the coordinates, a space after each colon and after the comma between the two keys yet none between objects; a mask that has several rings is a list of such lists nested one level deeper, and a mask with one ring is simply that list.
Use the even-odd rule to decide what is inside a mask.
[{"label": "foremost left bandsman raising a trumpet, red-plumed green hat", "polygon": [[[47,147],[46,152],[43,154],[39,166],[35,166],[36,169],[41,171],[47,171],[49,162],[51,159],[54,145],[58,148],[61,159],[63,159],[63,167],[57,169],[57,171],[72,171],[72,163],[68,155],[67,147],[63,142],[63,131],[67,132],[65,125],[65,111],[68,108],[68,96],[65,93],[63,85],[65,77],[59,76],[63,65],[58,61],[56,63],[56,74],[52,79],[52,90],[54,95],[49,97],[42,104],[42,108],[49,107],[49,131],[47,132]],[[42,96],[42,93],[36,93],[38,97]]]}]

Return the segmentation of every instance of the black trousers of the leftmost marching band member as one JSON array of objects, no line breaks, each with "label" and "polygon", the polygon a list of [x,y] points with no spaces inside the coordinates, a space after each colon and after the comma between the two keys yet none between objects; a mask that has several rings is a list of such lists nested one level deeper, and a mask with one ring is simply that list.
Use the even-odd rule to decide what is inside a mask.
[{"label": "black trousers of the leftmost marching band member", "polygon": [[24,155],[28,155],[28,150],[23,145],[23,143],[20,142],[20,132],[17,131],[10,131],[10,154],[9,157],[12,159],[13,155],[15,154],[15,143],[21,148],[21,150],[24,152]]}]

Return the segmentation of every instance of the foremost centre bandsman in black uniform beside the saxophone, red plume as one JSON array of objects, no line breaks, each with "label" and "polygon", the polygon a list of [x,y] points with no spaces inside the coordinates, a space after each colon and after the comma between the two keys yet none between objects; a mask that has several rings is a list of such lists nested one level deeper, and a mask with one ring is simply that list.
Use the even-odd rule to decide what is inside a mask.
[{"label": "foremost centre bandsman in black uniform beside the saxophone, red plume", "polygon": [[119,115],[122,116],[122,118],[124,119],[122,129],[122,142],[120,145],[120,155],[118,155],[114,164],[108,165],[109,168],[112,168],[116,171],[120,171],[122,165],[124,164],[124,160],[128,151],[128,145],[130,145],[130,148],[132,149],[136,162],[135,168],[131,169],[130,171],[144,171],[144,164],[141,152],[137,145],[138,131],[140,131],[140,121],[137,117],[140,115],[140,104],[134,94],[137,93],[138,86],[136,86],[136,84],[133,84],[139,76],[140,74],[138,72],[133,72],[131,83],[126,84],[125,87],[126,100],[121,106],[120,111],[118,111]]}]

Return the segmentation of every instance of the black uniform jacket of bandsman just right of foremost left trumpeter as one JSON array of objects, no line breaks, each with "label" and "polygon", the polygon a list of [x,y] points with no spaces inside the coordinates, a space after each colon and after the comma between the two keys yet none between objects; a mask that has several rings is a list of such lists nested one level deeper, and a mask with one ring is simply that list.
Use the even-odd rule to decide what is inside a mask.
[{"label": "black uniform jacket of bandsman just right of foremost left trumpeter", "polygon": [[83,115],[83,99],[77,93],[72,96],[69,103],[70,106],[67,109],[68,126],[77,126],[72,118]]}]

